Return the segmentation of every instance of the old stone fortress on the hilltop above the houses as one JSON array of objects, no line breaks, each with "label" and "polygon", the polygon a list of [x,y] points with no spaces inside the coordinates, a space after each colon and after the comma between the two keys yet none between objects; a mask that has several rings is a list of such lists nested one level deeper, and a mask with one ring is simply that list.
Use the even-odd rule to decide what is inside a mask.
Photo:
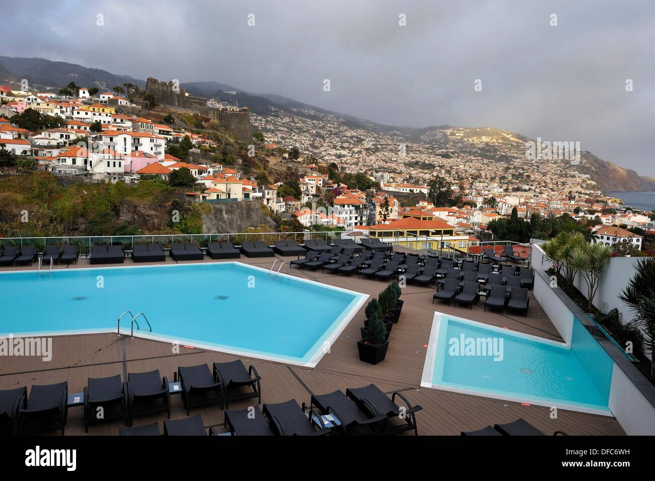
[{"label": "old stone fortress on the hilltop above the houses", "polygon": [[217,120],[225,129],[234,134],[242,142],[252,141],[252,124],[248,107],[208,107],[207,99],[190,96],[176,82],[161,82],[148,77],[145,82],[145,94],[155,97],[161,105],[175,107],[181,113],[198,113]]}]

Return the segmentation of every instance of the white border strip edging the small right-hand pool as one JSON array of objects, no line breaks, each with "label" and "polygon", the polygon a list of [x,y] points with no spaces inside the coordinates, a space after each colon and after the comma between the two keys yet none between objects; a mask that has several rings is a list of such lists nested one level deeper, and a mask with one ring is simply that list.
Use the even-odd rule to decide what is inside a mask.
[{"label": "white border strip edging the small right-hand pool", "polygon": [[523,404],[534,404],[535,406],[545,406],[547,408],[555,407],[557,409],[584,412],[587,414],[596,414],[597,416],[608,416],[613,418],[614,415],[610,410],[599,410],[594,408],[585,408],[582,406],[574,406],[572,404],[561,404],[559,402],[547,402],[541,401],[538,399],[514,397],[514,396],[505,396],[496,393],[489,393],[487,391],[477,391],[476,389],[464,389],[461,387],[452,387],[443,384],[433,384],[432,380],[434,379],[434,365],[436,363],[436,354],[439,344],[439,331],[441,328],[441,316],[447,315],[448,317],[455,319],[457,321],[462,321],[476,327],[482,327],[483,329],[495,330],[496,332],[510,332],[516,336],[528,338],[535,340],[537,342],[543,342],[544,344],[551,344],[552,346],[565,347],[568,348],[566,343],[557,342],[550,339],[540,338],[538,336],[533,336],[532,334],[524,334],[523,332],[517,332],[512,329],[504,329],[502,327],[496,327],[487,325],[485,323],[479,323],[477,321],[471,321],[470,319],[464,319],[462,317],[457,317],[455,315],[444,314],[441,312],[434,312],[434,318],[432,321],[432,329],[430,329],[430,340],[428,342],[428,350],[426,352],[425,364],[423,366],[423,374],[421,376],[421,387],[430,387],[432,389],[439,389],[440,391],[449,391],[451,393],[467,394],[472,396],[486,397],[488,399],[498,399],[500,401],[510,401],[510,402],[520,402]]}]

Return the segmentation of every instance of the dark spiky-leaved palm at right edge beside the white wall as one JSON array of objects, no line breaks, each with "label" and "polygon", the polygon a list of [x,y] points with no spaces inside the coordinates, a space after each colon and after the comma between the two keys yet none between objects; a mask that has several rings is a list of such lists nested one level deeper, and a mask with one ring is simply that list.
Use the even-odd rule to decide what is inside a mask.
[{"label": "dark spiky-leaved palm at right edge beside the white wall", "polygon": [[[643,331],[652,355],[655,353],[655,258],[639,259],[637,272],[618,298],[635,313],[633,322]],[[650,378],[655,380],[655,362],[650,365]]]}]

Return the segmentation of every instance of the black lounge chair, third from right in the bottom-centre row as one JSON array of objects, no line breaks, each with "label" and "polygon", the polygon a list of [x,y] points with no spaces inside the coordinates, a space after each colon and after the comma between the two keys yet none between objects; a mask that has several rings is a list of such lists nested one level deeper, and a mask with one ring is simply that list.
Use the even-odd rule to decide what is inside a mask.
[{"label": "black lounge chair, third from right in the bottom-centre row", "polygon": [[[331,431],[326,427],[323,419],[314,412],[309,410],[309,416],[305,415],[305,403],[303,407],[298,406],[295,399],[277,404],[264,404],[264,416],[271,419],[271,424],[278,436],[322,436]],[[320,429],[316,431],[318,422]]]}]

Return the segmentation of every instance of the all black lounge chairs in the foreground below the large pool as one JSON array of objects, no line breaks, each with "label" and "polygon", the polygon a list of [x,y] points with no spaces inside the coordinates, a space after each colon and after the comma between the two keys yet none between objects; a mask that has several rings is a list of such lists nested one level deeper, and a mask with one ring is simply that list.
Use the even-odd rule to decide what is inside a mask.
[{"label": "all black lounge chairs in the foreground below the large pool", "polygon": [[[254,366],[248,370],[242,361],[178,368],[181,397],[189,410],[198,406],[225,403],[225,425],[233,435],[324,435],[332,429],[350,434],[355,427],[367,427],[374,434],[394,434],[411,430],[418,434],[416,412],[402,393],[389,398],[374,384],[324,395],[312,395],[309,413],[303,403],[290,401],[265,403],[246,410],[229,410],[229,402],[257,398],[261,404],[261,377]],[[245,390],[244,390],[245,389]],[[0,434],[33,434],[61,429],[65,433],[68,414],[68,383],[33,385],[0,391]],[[404,406],[396,404],[401,399]],[[159,370],[130,372],[126,382],[121,375],[89,378],[83,392],[84,429],[109,420],[125,419],[121,435],[159,435],[157,423],[132,427],[134,418],[164,412],[164,435],[206,435],[200,416],[170,421],[170,388]],[[98,418],[98,408],[103,416]],[[387,422],[398,418],[400,423]],[[268,419],[268,421],[267,421]],[[331,424],[326,426],[325,419]],[[210,430],[210,435],[217,432]]]}]

